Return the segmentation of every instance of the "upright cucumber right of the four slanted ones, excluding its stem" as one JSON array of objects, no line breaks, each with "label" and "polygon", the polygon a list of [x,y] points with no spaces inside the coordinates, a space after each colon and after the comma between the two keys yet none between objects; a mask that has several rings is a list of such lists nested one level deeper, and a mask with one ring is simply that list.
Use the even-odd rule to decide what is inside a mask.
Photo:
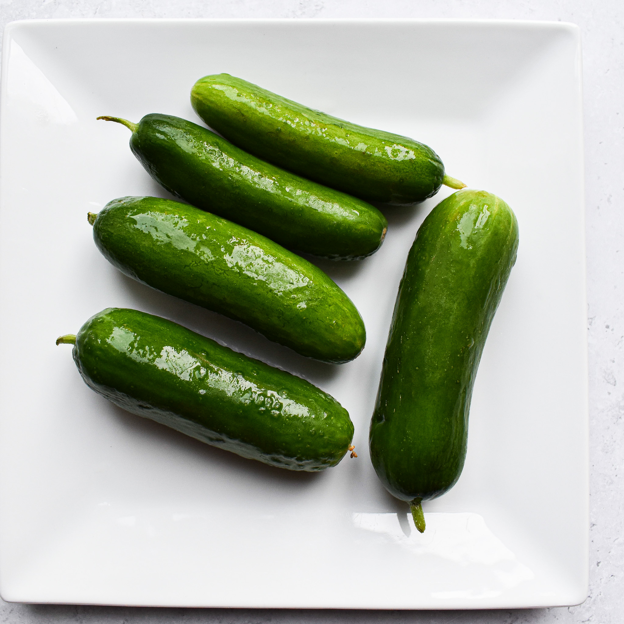
[{"label": "upright cucumber right of the four slanted ones, excluding its stem", "polygon": [[509,206],[462,190],[424,220],[407,256],[369,446],[401,500],[433,499],[459,479],[472,387],[518,248]]}]

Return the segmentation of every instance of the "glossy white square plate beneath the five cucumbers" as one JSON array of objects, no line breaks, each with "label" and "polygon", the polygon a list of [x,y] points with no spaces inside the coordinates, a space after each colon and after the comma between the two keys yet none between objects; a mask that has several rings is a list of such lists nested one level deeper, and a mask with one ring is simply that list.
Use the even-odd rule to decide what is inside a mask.
[{"label": "glossy white square plate beneath the five cucumbers", "polygon": [[[474,390],[466,467],[427,530],[379,484],[368,424],[407,250],[451,191],[388,208],[358,263],[318,261],[368,344],[314,363],[241,324],[125,278],[87,211],[163,195],[122,126],[198,122],[193,82],[228,72],[431,145],[500,195],[518,261]],[[197,607],[482,608],[582,602],[588,459],[580,40],[507,21],[16,22],[2,52],[0,590],[17,602]],[[310,379],[351,413],[359,457],[273,469],[117,409],[70,349],[92,314],[160,314]]]}]

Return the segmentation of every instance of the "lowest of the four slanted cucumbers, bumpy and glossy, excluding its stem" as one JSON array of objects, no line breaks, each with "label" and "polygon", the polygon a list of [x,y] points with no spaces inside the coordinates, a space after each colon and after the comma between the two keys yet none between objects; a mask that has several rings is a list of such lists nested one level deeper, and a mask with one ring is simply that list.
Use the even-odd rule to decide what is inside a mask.
[{"label": "lowest of the four slanted cucumbers, bumpy and glossy, excluding its stem", "polygon": [[73,354],[85,383],[115,405],[271,466],[336,466],[353,439],[329,394],[152,314],[95,314]]}]

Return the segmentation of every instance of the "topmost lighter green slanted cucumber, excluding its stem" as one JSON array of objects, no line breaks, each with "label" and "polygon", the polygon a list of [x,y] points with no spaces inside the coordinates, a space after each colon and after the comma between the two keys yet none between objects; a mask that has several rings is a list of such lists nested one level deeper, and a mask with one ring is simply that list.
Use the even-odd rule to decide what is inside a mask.
[{"label": "topmost lighter green slanted cucumber, excluding its stem", "polygon": [[367,202],[421,202],[444,179],[444,165],[427,145],[331,117],[229,74],[197,80],[191,104],[250,154]]}]

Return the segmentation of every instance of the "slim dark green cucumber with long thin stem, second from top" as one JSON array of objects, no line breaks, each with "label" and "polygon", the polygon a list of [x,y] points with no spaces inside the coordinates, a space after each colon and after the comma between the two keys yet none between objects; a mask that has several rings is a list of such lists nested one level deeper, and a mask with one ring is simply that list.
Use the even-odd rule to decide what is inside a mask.
[{"label": "slim dark green cucumber with long thin stem, second from top", "polygon": [[130,149],[173,195],[289,249],[333,260],[378,250],[386,217],[369,203],[304,180],[243,152],[210,130],[171,115],[145,115]]}]

